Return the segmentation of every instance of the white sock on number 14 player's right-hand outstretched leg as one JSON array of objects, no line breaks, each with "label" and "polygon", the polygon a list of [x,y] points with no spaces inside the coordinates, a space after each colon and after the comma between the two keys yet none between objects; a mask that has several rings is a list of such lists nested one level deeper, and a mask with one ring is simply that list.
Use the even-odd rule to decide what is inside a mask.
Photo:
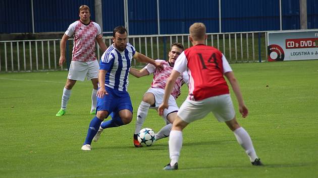
[{"label": "white sock on number 14 player's right-hand outstretched leg", "polygon": [[[243,127],[240,127],[234,130],[234,135],[237,139],[237,142],[244,148],[246,154],[248,155],[251,162],[253,162],[257,157],[254,150],[252,140],[249,137],[248,133]],[[170,136],[171,137],[171,136]]]}]

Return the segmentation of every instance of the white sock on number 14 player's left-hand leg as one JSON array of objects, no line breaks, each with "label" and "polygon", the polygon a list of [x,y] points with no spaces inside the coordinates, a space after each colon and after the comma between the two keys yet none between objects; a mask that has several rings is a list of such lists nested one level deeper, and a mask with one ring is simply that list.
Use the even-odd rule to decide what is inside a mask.
[{"label": "white sock on number 14 player's left-hand leg", "polygon": [[180,151],[182,148],[182,131],[172,130],[169,137],[169,154],[170,154],[170,165],[175,165],[179,160]]}]

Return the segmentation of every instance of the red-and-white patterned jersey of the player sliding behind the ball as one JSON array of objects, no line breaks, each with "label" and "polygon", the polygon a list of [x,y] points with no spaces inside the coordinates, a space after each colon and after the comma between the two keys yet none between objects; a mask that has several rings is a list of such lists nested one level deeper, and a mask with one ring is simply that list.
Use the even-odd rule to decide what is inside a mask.
[{"label": "red-and-white patterned jersey of the player sliding behind the ball", "polygon": [[[154,65],[148,64],[144,67],[144,69],[148,70],[149,74],[153,73],[153,80],[151,82],[151,88],[162,88],[165,90],[168,78],[172,72],[173,66],[170,66],[169,62],[165,60],[157,59],[155,61],[159,61],[163,64],[163,69],[155,68]],[[177,78],[173,91],[171,95],[177,99],[179,95],[181,94],[181,86],[184,83],[188,84],[189,81],[189,75],[187,72],[183,72],[180,74],[180,76]]]}]

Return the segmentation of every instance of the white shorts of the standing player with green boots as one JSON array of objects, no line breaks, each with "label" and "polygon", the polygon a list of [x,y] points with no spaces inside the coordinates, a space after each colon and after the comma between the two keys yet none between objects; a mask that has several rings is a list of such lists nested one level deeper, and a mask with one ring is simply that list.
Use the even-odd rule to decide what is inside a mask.
[{"label": "white shorts of the standing player with green boots", "polygon": [[84,81],[98,78],[99,64],[97,60],[82,62],[73,60],[70,65],[68,79]]}]

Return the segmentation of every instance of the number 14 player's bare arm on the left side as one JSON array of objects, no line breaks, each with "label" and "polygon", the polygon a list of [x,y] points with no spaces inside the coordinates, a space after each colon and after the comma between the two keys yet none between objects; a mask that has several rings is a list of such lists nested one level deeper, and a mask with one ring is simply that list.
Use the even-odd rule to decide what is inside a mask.
[{"label": "number 14 player's bare arm on the left side", "polygon": [[166,84],[164,101],[158,108],[158,114],[160,116],[163,115],[165,109],[168,109],[169,97],[170,97],[171,92],[173,90],[174,84],[179,76],[180,76],[180,72],[178,72],[177,70],[172,70],[170,77],[168,78],[168,81]]}]

